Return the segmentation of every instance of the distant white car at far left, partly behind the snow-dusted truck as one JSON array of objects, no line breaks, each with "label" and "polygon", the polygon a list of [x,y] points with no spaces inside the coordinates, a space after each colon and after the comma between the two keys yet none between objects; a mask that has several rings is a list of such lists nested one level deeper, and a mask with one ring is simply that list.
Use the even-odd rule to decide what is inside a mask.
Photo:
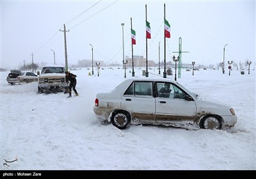
[{"label": "distant white car at far left, partly behind the snow-dusted truck", "polygon": [[20,83],[20,82],[33,82],[38,81],[38,76],[33,72],[21,72],[16,70],[7,75],[6,81],[10,84]]}]

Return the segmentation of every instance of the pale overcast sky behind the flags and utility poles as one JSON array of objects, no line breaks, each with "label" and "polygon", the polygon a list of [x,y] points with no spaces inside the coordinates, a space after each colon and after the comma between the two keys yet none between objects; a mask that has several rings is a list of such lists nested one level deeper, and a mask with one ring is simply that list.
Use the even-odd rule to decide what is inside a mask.
[{"label": "pale overcast sky behind the flags and utility poles", "polygon": [[145,56],[145,4],[150,22],[148,60],[164,59],[164,3],[171,38],[166,38],[166,61],[179,50],[182,63],[216,65],[228,60],[255,64],[255,1],[4,1],[1,0],[1,67],[15,68],[32,62],[65,65],[63,24],[66,24],[68,65],[78,60],[122,63],[131,57],[132,29],[136,31],[134,55]]}]

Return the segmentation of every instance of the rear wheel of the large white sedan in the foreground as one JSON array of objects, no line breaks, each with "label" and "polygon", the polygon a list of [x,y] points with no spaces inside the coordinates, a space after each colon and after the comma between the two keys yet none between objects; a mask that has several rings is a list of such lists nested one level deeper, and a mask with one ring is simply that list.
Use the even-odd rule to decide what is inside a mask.
[{"label": "rear wheel of the large white sedan in the foreground", "polygon": [[115,111],[111,116],[111,123],[119,128],[127,128],[131,123],[131,116],[127,111]]}]

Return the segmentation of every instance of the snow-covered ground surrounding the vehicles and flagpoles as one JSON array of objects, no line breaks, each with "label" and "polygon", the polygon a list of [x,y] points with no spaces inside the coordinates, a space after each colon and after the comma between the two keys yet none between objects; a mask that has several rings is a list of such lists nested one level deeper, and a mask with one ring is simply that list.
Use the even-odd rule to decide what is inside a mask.
[{"label": "snow-covered ground surrounding the vehicles and flagpoles", "polygon": [[[127,69],[127,78],[131,77]],[[110,91],[124,80],[124,70],[71,71],[77,75],[79,97],[38,94],[37,82],[6,82],[1,72],[1,169],[4,159],[15,170],[192,170],[256,169],[255,70],[200,70],[186,72],[177,81],[209,100],[232,105],[237,123],[232,130],[132,125],[119,130],[95,118],[93,105],[99,92]],[[142,75],[136,70],[136,76]],[[173,70],[173,74],[175,70]],[[156,75],[154,75],[156,74]],[[158,70],[149,71],[149,77]],[[174,75],[168,76],[173,79]]]}]

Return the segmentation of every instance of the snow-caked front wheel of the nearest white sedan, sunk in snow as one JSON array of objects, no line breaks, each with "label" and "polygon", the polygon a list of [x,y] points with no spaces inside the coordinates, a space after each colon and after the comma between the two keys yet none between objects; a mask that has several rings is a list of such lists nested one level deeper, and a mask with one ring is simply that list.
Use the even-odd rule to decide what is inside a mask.
[{"label": "snow-caked front wheel of the nearest white sedan, sunk in snow", "polygon": [[221,120],[218,116],[214,115],[208,115],[202,118],[200,121],[200,128],[205,128],[205,129],[221,129],[222,124]]}]

